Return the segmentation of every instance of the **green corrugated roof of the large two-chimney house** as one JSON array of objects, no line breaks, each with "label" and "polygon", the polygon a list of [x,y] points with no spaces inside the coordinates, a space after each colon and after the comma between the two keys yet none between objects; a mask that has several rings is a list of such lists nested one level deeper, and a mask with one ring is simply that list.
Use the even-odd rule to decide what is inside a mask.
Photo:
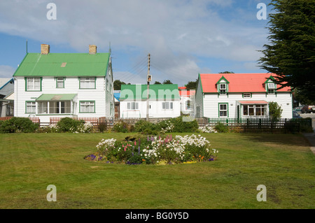
[{"label": "green corrugated roof of the large two-chimney house", "polygon": [[28,53],[14,76],[105,76],[109,56],[109,53]]}]

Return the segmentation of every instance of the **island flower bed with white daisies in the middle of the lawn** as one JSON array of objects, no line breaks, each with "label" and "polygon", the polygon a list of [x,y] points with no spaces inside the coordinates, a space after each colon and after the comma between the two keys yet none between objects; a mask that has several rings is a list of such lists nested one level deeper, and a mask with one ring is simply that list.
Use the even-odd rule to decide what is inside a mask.
[{"label": "island flower bed with white daisies in the middle of the lawn", "polygon": [[147,136],[135,141],[118,142],[116,139],[102,139],[97,152],[85,159],[125,164],[188,164],[200,161],[214,161],[218,150],[210,148],[210,143],[202,136],[168,135]]}]

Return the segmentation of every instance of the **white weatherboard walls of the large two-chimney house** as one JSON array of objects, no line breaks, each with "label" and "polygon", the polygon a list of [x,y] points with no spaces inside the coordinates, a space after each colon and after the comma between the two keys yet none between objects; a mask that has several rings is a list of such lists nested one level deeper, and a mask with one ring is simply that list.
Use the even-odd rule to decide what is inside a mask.
[{"label": "white weatherboard walls of the large two-chimney house", "polygon": [[[110,117],[110,103],[113,101],[113,82],[106,75],[96,78],[96,89],[79,89],[78,77],[66,77],[64,88],[56,88],[55,77],[43,76],[41,92],[25,91],[25,77],[15,77],[14,85],[14,116],[39,117],[41,122],[50,122],[50,117],[69,117],[70,115],[37,115],[26,113],[26,101],[36,101],[41,94],[78,94],[76,97],[75,117]],[[109,81],[109,89],[106,89],[106,80]],[[95,113],[79,113],[80,101],[95,101]],[[36,109],[37,111],[37,109]],[[113,115],[113,111],[112,111]]]}]

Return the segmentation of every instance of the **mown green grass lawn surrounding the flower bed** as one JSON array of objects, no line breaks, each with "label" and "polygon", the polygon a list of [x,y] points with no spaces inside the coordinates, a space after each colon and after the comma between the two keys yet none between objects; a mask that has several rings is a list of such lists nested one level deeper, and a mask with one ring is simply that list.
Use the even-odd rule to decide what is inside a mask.
[{"label": "mown green grass lawn surrounding the flower bed", "polygon": [[218,160],[197,164],[83,159],[102,138],[130,135],[0,134],[0,208],[315,208],[315,156],[300,134],[202,134]]}]

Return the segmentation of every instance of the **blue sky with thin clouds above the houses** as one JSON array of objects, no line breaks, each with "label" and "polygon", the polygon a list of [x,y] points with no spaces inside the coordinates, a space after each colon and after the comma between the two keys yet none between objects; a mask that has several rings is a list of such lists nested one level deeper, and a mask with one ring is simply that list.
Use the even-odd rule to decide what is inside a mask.
[{"label": "blue sky with thin clouds above the houses", "polygon": [[[48,20],[48,3],[56,20]],[[198,73],[263,73],[258,50],[268,20],[258,3],[269,0],[11,0],[0,2],[0,78],[12,77],[28,52],[111,52],[115,79],[146,83],[151,54],[153,82],[185,85]]]}]

